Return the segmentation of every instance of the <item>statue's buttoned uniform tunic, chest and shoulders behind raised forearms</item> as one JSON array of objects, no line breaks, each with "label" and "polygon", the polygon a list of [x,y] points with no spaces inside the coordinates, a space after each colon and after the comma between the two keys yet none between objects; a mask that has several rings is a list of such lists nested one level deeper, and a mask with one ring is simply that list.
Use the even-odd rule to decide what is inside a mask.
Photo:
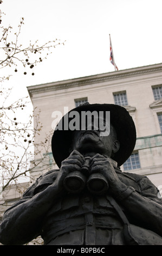
[{"label": "statue's buttoned uniform tunic, chest and shoulders behind raised forearms", "polygon": [[[161,199],[157,197],[157,188],[148,178],[137,174],[123,173],[115,163],[114,168],[124,184],[133,187],[141,196],[162,205]],[[35,184],[23,194],[23,198],[11,208],[29,200],[53,184],[58,172],[59,170],[51,170],[41,175]],[[121,220],[119,212],[114,209],[110,199],[108,191],[101,196],[95,196],[85,190],[80,194],[67,192],[63,198],[55,200],[44,217],[40,229],[44,245],[126,245],[124,222]],[[120,205],[120,202],[118,203]],[[121,205],[120,207],[122,209]],[[135,218],[131,220],[129,213],[125,209],[122,210],[129,222],[136,225],[137,220]]]}]

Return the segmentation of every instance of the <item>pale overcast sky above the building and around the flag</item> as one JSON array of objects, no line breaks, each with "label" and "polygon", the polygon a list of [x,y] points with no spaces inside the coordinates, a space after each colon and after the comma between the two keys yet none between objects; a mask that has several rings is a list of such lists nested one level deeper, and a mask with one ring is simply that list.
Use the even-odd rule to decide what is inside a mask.
[{"label": "pale overcast sky above the building and around the flag", "polygon": [[[66,40],[38,65],[35,76],[9,70],[6,86],[16,96],[27,86],[114,71],[109,34],[119,70],[161,63],[161,0],[3,0],[1,25],[15,30],[21,17],[21,42]],[[1,70],[2,75],[6,71]]]}]

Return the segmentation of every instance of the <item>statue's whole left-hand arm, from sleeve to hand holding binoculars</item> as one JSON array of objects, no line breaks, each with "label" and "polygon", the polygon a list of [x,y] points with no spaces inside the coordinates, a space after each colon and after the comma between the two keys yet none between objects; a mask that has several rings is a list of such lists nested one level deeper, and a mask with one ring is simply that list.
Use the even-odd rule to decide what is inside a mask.
[{"label": "statue's whole left-hand arm, from sleeve to hand holding binoculars", "polygon": [[[23,198],[11,207],[4,214],[0,225],[0,242],[4,245],[24,245],[40,235],[42,222],[48,210],[66,193],[63,186],[64,178],[73,170],[81,170],[83,163],[83,156],[74,150],[62,161],[56,179],[51,185],[41,192],[37,191],[34,196]],[[47,180],[45,177],[44,179]]]}]

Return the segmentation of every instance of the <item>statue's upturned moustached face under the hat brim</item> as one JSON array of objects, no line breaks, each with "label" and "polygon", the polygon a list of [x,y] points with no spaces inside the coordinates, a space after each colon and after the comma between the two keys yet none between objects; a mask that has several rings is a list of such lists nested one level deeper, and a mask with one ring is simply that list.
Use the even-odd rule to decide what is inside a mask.
[{"label": "statue's upturned moustached face under the hat brim", "polygon": [[75,131],[72,148],[79,151],[82,155],[99,153],[111,157],[113,153],[118,151],[119,142],[116,140],[116,132],[111,125],[108,136],[101,136],[101,131]]}]

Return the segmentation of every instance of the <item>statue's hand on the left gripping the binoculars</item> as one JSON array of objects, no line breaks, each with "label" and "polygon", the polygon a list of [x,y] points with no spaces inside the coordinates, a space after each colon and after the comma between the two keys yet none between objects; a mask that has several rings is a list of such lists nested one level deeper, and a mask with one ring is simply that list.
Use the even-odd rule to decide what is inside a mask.
[{"label": "statue's hand on the left gripping the binoculars", "polygon": [[74,172],[75,170],[81,171],[84,162],[85,158],[77,150],[74,150],[67,159],[63,160],[56,179],[59,187],[63,186],[64,178],[66,178],[70,172]]}]

